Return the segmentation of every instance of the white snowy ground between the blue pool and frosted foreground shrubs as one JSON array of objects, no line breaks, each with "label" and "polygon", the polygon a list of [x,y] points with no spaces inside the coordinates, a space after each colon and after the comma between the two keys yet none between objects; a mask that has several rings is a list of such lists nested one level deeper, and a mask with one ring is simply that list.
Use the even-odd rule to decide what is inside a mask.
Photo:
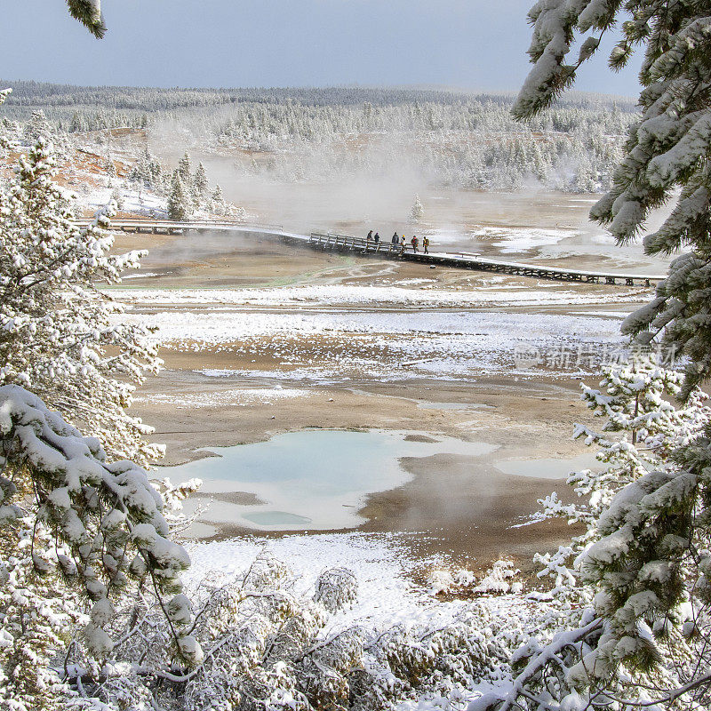
[{"label": "white snowy ground between the blue pool and frosted foreground shrubs", "polygon": [[[185,579],[188,587],[198,588],[205,580],[227,584],[240,580],[257,555],[268,550],[292,572],[290,592],[297,598],[314,594],[318,576],[332,568],[345,568],[355,574],[356,600],[332,613],[319,638],[332,639],[350,628],[359,628],[376,640],[389,629],[434,631],[467,621],[490,639],[499,636],[515,644],[522,630],[533,629],[551,617],[551,608],[538,593],[483,595],[475,601],[454,599],[448,602],[435,596],[438,579],[451,579],[447,563],[439,556],[408,555],[403,539],[392,533],[329,533],[310,536],[291,535],[278,539],[236,539],[193,544],[188,547],[192,566]],[[413,573],[429,582],[418,585]],[[451,571],[455,572],[455,571]],[[475,578],[465,573],[469,587]],[[481,627],[484,622],[485,627]],[[500,679],[505,680],[506,675]],[[477,685],[459,685],[446,696],[422,692],[416,699],[404,700],[398,711],[452,711],[464,709],[467,702],[490,691],[494,679]]]}]

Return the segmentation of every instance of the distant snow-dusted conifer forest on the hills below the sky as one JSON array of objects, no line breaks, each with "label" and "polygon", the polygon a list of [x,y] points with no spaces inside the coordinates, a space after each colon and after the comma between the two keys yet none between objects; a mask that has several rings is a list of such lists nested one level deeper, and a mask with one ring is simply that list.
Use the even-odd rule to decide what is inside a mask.
[{"label": "distant snow-dusted conifer forest on the hills below the sky", "polygon": [[[10,84],[8,84],[10,85]],[[41,110],[71,136],[143,129],[232,156],[244,176],[414,172],[434,185],[596,192],[611,185],[635,103],[579,94],[516,122],[514,97],[411,89],[84,89],[13,83],[5,116]]]}]

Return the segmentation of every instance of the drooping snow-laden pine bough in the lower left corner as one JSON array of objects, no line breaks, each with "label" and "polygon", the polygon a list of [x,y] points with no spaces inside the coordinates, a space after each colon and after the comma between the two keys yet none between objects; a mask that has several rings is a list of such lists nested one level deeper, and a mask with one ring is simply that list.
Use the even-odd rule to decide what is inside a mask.
[{"label": "drooping snow-laden pine bough in the lower left corner", "polygon": [[[195,664],[202,651],[186,633],[191,621],[182,595],[180,573],[188,554],[169,538],[163,500],[142,467],[131,461],[108,462],[100,443],[49,411],[42,401],[19,386],[0,387],[0,487],[12,493],[24,484],[36,500],[37,521],[52,531],[61,572],[92,601],[84,639],[92,654],[103,657],[113,641],[106,627],[114,617],[111,596],[130,579],[148,579],[161,603],[174,643],[184,663]],[[16,517],[10,499],[3,501],[6,524]],[[33,555],[36,570],[50,563]],[[164,595],[172,598],[164,602]]]}]

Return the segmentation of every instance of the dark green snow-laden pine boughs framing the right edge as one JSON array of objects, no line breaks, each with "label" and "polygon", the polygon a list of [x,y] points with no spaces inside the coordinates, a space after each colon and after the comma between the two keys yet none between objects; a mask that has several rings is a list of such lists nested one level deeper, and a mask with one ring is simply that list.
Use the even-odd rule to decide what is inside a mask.
[{"label": "dark green snow-laden pine boughs framing the right edge", "polygon": [[[711,373],[708,4],[539,2],[529,14],[535,66],[514,115],[534,116],[555,100],[620,12],[631,19],[622,25],[610,64],[623,67],[635,45],[643,44],[642,116],[630,128],[611,191],[591,217],[624,244],[643,229],[651,209],[681,188],[671,215],[644,238],[644,248],[657,254],[690,246],[691,252],[672,263],[656,299],[630,316],[623,330],[642,344],[659,339],[673,354],[687,356],[681,395],[689,400]],[[580,33],[589,36],[578,59],[566,63]],[[620,422],[628,419],[629,412]],[[587,616],[546,648],[531,644],[519,655],[525,668],[511,690],[484,697],[472,711],[711,705],[710,472],[706,427],[703,435],[680,443],[667,466],[652,468],[612,497],[599,515],[595,542],[577,563],[581,579],[597,590]]]}]

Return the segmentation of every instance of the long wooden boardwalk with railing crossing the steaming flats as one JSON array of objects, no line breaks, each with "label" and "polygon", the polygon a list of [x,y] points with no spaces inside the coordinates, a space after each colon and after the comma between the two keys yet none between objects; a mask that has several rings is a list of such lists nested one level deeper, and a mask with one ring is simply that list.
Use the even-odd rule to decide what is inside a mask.
[{"label": "long wooden boardwalk with railing crossing the steaming flats", "polygon": [[[76,220],[80,227],[86,227],[92,220]],[[512,276],[531,276],[536,279],[553,279],[561,282],[584,282],[587,284],[624,284],[627,286],[651,286],[665,279],[662,275],[619,274],[616,272],[596,272],[583,269],[548,267],[530,262],[491,260],[468,252],[413,252],[411,244],[406,244],[404,251],[399,245],[390,242],[375,243],[365,237],[337,235],[332,232],[312,232],[300,235],[284,231],[282,225],[252,225],[234,220],[152,220],[148,218],[119,218],[111,220],[111,228],[124,232],[146,232],[152,234],[181,234],[196,232],[240,232],[254,236],[276,237],[289,244],[300,244],[316,250],[334,252],[353,252],[362,256],[379,259],[416,261],[441,267],[472,269],[475,271],[495,272]]]}]

